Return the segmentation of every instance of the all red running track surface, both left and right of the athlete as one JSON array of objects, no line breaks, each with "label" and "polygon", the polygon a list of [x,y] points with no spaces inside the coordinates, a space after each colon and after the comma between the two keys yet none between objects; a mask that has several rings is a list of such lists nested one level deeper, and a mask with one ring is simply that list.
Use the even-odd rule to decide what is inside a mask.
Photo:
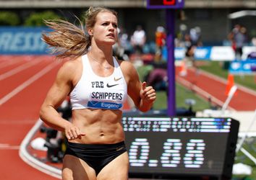
[{"label": "all red running track surface, both left and right of the athlete", "polygon": [[[53,84],[61,63],[51,56],[0,56],[0,171],[1,179],[51,180],[56,179],[27,165],[19,156],[19,148],[27,132],[38,120],[40,104]],[[209,76],[176,76],[176,80],[193,88],[204,89],[216,99],[225,100],[226,85],[214,81]],[[189,84],[190,82],[190,84]],[[216,89],[216,88],[221,89]],[[219,92],[216,94],[216,92]],[[247,105],[242,105],[246,99]],[[254,95],[244,94],[239,89],[231,107],[237,110],[254,110]],[[127,107],[127,106],[126,106]]]}]

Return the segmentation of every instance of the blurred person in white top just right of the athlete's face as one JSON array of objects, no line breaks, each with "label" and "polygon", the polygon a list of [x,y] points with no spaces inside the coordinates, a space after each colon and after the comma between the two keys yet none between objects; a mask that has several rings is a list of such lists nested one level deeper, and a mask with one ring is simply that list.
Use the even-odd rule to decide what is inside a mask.
[{"label": "blurred person in white top just right of the athlete's face", "polygon": [[143,47],[145,45],[145,42],[146,42],[146,33],[142,29],[141,25],[137,25],[137,28],[131,37],[131,44],[133,49],[135,50],[135,53],[139,55],[143,53]]}]

